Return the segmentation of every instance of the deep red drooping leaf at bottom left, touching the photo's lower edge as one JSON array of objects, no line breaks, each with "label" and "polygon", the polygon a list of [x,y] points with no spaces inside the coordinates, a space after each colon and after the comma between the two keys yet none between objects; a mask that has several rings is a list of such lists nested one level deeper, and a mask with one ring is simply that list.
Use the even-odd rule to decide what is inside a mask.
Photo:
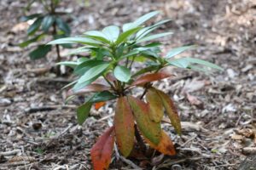
[{"label": "deep red drooping leaf at bottom left, touching the photo's lower edge", "polygon": [[97,139],[96,144],[92,146],[90,156],[94,170],[108,169],[113,152],[113,141],[113,127],[109,127],[108,130]]}]

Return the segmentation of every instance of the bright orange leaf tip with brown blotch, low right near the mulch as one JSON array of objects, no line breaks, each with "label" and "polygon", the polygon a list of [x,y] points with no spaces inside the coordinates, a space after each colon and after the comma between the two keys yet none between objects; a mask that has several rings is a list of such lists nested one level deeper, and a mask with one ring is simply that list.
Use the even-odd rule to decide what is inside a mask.
[{"label": "bright orange leaf tip with brown blotch, low right near the mulch", "polygon": [[153,144],[150,140],[145,139],[146,142],[150,145],[150,147],[154,148],[154,150],[160,151],[162,154],[168,156],[176,155],[176,150],[174,145],[172,144],[172,140],[170,137],[165,133],[165,131],[161,131],[161,139],[159,144]]}]

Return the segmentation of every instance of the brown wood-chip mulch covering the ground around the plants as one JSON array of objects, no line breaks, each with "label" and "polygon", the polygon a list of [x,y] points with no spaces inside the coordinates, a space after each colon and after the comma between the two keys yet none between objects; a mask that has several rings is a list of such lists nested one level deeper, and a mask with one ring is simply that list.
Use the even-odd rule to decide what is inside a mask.
[{"label": "brown wood-chip mulch covering the ground around the plants", "polygon": [[[172,96],[183,122],[181,137],[163,124],[177,145],[177,156],[138,155],[129,158],[131,163],[113,154],[111,169],[237,169],[250,153],[255,154],[255,1],[67,2],[62,9],[72,12],[73,35],[121,25],[159,9],[160,18],[173,20],[162,29],[176,32],[163,39],[164,53],[172,47],[198,44],[188,55],[225,69],[208,77],[170,68],[177,77],[155,85]],[[26,1],[0,1],[0,169],[91,169],[90,147],[112,122],[112,104],[92,111],[82,127],[77,125],[75,106],[82,100],[64,106],[66,91],[60,89],[73,77],[56,77],[48,69],[55,53],[32,61],[28,53],[36,44],[17,46],[26,38],[27,23],[18,25],[25,5]]]}]

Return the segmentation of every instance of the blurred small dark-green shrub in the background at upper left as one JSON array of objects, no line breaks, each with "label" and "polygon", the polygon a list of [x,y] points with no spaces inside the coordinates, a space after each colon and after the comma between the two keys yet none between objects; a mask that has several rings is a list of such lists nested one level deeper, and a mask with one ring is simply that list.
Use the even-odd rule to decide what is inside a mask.
[{"label": "blurred small dark-green shrub in the background at upper left", "polygon": [[[32,3],[40,3],[44,7],[44,13],[36,13],[28,16],[22,16],[20,21],[24,22],[27,20],[34,20],[32,25],[27,29],[28,40],[26,42],[21,42],[20,47],[25,48],[32,42],[38,42],[42,38],[51,36],[52,39],[69,37],[70,36],[70,27],[62,19],[62,16],[65,15],[65,12],[57,12],[60,4],[60,0],[31,0],[27,2],[27,7],[30,8]],[[68,44],[64,47],[69,47]],[[61,61],[60,47],[58,44],[55,45],[57,53],[57,61]],[[52,45],[38,45],[38,48],[32,50],[29,54],[31,59],[41,59],[44,58],[49,51],[52,49]]]}]

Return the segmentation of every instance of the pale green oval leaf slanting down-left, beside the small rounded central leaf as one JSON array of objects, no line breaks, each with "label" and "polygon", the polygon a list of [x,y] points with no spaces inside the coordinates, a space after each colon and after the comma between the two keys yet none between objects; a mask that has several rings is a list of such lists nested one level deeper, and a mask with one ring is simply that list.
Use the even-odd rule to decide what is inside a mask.
[{"label": "pale green oval leaf slanting down-left, beside the small rounded central leaf", "polygon": [[104,63],[101,65],[96,65],[91,67],[88,71],[84,73],[82,77],[79,78],[78,83],[87,82],[92,78],[99,77],[103,71],[105,71],[109,66],[109,63]]}]

